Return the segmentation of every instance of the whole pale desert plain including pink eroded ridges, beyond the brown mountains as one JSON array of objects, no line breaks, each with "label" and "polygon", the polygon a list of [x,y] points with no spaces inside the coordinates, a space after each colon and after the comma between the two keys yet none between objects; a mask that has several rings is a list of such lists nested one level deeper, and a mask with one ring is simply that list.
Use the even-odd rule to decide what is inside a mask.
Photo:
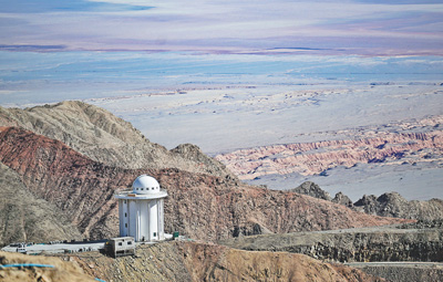
[{"label": "whole pale desert plain including pink eroded ridges, beyond the brown mountains", "polygon": [[442,198],[441,82],[363,77],[192,84],[90,103],[167,148],[198,145],[253,185],[313,181],[354,201],[368,191]]}]

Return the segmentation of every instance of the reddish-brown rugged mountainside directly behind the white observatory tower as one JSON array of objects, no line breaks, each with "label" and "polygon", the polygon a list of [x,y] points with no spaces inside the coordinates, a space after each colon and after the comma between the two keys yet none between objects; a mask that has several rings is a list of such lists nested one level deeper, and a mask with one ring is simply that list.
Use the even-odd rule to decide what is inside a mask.
[{"label": "reddish-brown rugged mountainside directly behind the white observatory tower", "polygon": [[38,197],[64,211],[91,238],[117,234],[115,190],[130,188],[141,174],[155,177],[169,197],[166,231],[219,240],[262,231],[340,229],[404,222],[354,212],[295,192],[246,186],[229,177],[171,169],[105,166],[64,144],[20,128],[0,132],[0,161],[13,169]]}]

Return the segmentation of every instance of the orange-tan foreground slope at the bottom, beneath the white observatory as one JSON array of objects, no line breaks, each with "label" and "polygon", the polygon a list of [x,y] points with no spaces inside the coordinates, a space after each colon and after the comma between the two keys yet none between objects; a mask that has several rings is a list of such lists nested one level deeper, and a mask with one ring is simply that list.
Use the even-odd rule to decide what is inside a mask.
[{"label": "orange-tan foreground slope at the bottom, beneath the white observatory", "polygon": [[247,252],[198,242],[142,246],[136,258],[79,254],[64,259],[105,281],[384,281],[302,254]]}]

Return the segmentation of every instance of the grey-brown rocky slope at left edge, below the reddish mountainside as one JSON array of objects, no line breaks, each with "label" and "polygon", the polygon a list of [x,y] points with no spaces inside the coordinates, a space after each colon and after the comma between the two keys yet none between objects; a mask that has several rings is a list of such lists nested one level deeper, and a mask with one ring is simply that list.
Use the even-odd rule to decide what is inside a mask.
[{"label": "grey-brown rocky slope at left edge, below the reddish mountainside", "polygon": [[32,195],[19,175],[0,164],[0,247],[10,242],[82,239],[68,217]]}]

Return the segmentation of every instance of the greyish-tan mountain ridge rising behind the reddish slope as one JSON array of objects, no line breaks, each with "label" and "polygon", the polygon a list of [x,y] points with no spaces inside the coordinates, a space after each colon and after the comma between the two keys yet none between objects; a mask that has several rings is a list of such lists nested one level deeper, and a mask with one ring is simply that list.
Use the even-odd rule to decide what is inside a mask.
[{"label": "greyish-tan mountain ridge rising behind the reddish slope", "polygon": [[107,111],[79,101],[32,108],[0,107],[0,126],[19,126],[60,140],[89,158],[112,167],[179,168],[192,173],[230,176],[219,161],[197,146],[173,150],[151,143],[130,123]]}]

